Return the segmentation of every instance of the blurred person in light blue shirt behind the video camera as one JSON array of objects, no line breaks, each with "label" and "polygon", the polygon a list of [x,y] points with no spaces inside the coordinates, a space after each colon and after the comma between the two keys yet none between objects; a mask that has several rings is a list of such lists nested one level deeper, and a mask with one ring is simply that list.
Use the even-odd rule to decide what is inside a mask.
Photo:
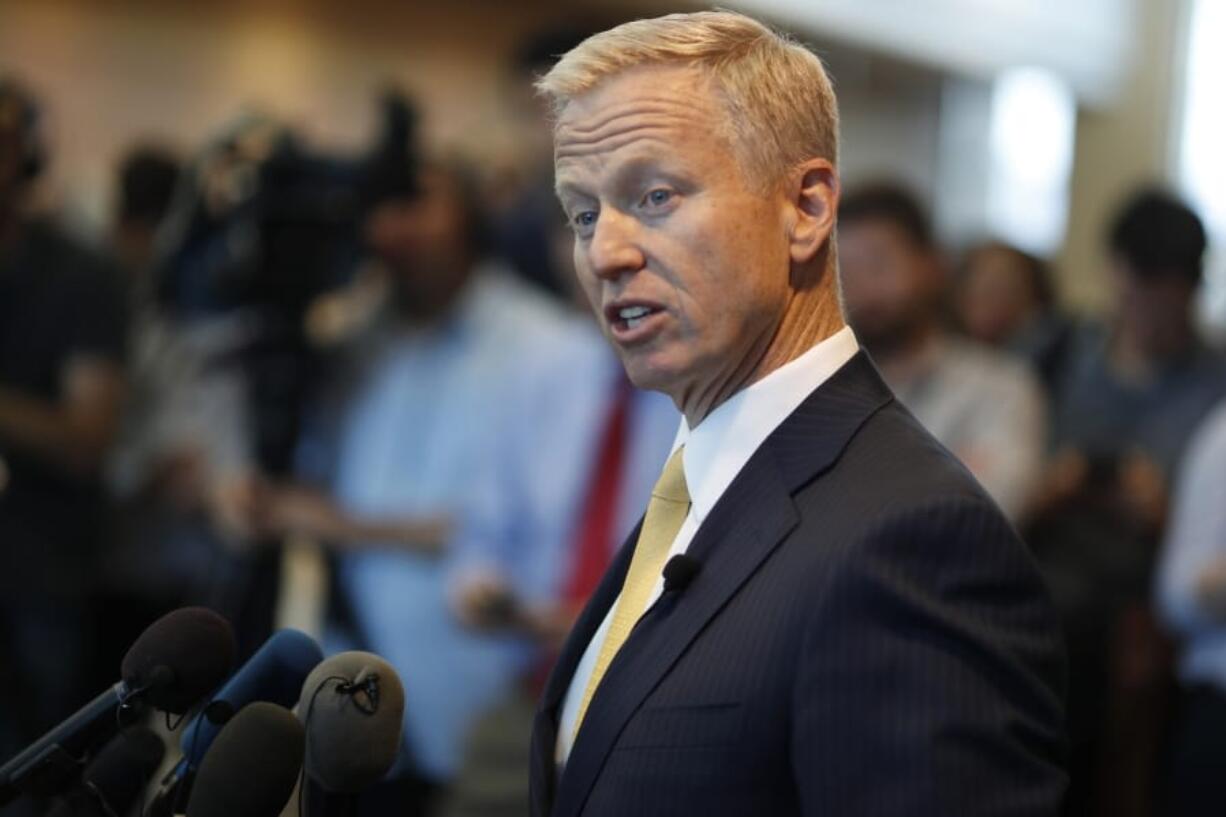
[{"label": "blurred person in light blue shirt behind the video camera", "polygon": [[[456,163],[429,163],[417,195],[379,204],[368,239],[384,298],[360,297],[369,320],[335,340],[330,384],[299,447],[300,482],[237,486],[232,505],[257,531],[332,546],[354,635],[409,691],[407,757],[363,813],[429,813],[471,723],[525,661],[520,639],[455,618],[456,531],[492,464],[526,456],[547,471],[571,455],[564,438],[539,435],[531,412],[568,399],[565,380],[546,375],[582,341],[544,296],[485,260],[476,185]],[[525,439],[541,444],[525,449]]]}]

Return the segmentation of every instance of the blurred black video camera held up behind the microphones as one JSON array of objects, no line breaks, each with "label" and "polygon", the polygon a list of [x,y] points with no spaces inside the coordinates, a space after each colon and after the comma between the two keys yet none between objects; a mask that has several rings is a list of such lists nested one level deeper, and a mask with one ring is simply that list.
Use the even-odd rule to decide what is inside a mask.
[{"label": "blurred black video camera held up behind the microphones", "polygon": [[243,340],[219,363],[244,370],[256,458],[271,474],[289,466],[315,379],[306,308],[353,276],[370,210],[418,189],[416,110],[392,91],[380,105],[374,144],[346,158],[243,118],[197,157],[159,234],[154,277],[170,314],[242,315]]}]

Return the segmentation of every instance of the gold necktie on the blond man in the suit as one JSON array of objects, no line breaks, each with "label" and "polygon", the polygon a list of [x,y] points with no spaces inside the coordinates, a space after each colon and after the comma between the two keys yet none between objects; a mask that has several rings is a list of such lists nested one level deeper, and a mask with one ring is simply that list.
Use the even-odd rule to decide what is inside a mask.
[{"label": "gold necktie on the blond man in the suit", "polygon": [[685,515],[689,514],[689,491],[685,487],[685,469],[682,466],[683,450],[684,445],[668,458],[663,474],[651,489],[651,502],[647,503],[642,530],[634,546],[634,556],[630,557],[630,569],[625,574],[622,595],[618,596],[613,610],[613,621],[609,623],[608,634],[601,644],[596,666],[592,667],[592,675],[587,678],[587,687],[579,704],[579,716],[575,719],[576,735],[584,723],[584,715],[587,714],[587,705],[592,702],[601,678],[604,677],[604,671],[613,662],[613,656],[622,649],[639,617],[646,611],[647,599],[651,597],[660,572],[664,567],[664,558],[673,546],[673,540],[677,539],[677,531],[685,521]]}]

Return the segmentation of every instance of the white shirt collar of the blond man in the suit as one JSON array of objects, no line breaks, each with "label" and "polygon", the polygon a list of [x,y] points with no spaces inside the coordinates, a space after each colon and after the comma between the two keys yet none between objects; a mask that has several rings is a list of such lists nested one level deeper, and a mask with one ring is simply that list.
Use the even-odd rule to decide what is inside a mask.
[{"label": "white shirt collar of the blond man in the suit", "polygon": [[845,326],[728,397],[698,427],[690,428],[682,417],[672,450],[685,445],[685,485],[699,523],[771,432],[858,350],[856,335]]}]

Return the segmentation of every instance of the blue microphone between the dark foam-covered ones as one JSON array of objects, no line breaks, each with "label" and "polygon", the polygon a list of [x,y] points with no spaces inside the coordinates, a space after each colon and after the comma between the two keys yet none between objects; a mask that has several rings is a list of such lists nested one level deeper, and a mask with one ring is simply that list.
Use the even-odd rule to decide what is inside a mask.
[{"label": "blue microphone between the dark foam-covered ones", "polygon": [[281,707],[293,705],[306,675],[322,660],[324,651],[306,633],[297,629],[273,633],[213,696],[204,712],[188,724],[179,740],[183,758],[162,778],[146,815],[168,817],[181,813],[183,804],[191,794],[191,774],[208,752],[222,725],[235,712],[255,700]]}]

